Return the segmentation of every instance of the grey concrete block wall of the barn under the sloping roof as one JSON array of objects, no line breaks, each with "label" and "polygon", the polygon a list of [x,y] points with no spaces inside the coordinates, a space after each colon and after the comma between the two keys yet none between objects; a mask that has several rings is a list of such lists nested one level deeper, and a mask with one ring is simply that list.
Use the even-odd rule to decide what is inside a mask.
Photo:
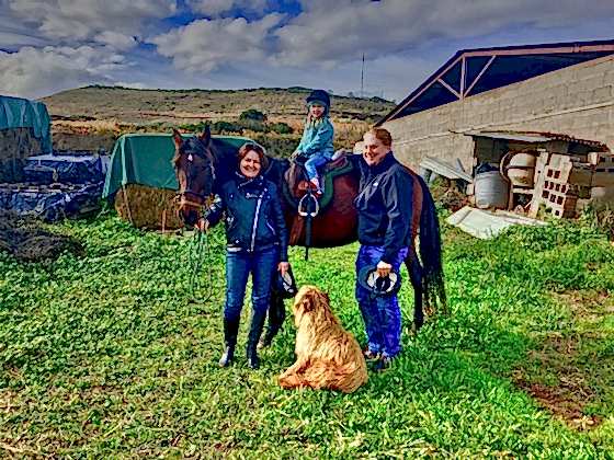
[{"label": "grey concrete block wall of the barn under the sloping roof", "polygon": [[599,140],[614,151],[614,56],[545,73],[387,122],[395,154],[417,169],[427,156],[473,164],[468,130],[525,130]]}]

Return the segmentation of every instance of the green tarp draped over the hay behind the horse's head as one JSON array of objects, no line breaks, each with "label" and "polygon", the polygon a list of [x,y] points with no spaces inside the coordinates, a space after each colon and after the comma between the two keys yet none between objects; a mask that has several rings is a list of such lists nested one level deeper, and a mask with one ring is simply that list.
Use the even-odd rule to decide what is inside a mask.
[{"label": "green tarp draped over the hay behind the horse's head", "polygon": [[[193,135],[183,135],[185,138],[191,136]],[[236,149],[252,141],[238,136],[214,136],[214,138]],[[173,156],[174,142],[170,134],[122,136],[113,148],[102,196],[111,196],[127,184],[178,189],[179,185],[171,164]]]}]

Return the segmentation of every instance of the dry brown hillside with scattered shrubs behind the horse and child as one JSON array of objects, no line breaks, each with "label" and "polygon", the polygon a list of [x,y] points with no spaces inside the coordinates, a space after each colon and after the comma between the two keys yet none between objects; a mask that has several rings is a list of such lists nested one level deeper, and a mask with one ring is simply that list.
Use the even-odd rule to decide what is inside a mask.
[{"label": "dry brown hillside with scattered shrubs behind the horse and child", "polygon": [[[306,88],[172,91],[87,87],[62,91],[42,101],[53,118],[56,150],[104,148],[111,151],[122,134],[171,133],[178,127],[193,131],[203,123],[235,123],[242,112],[253,108],[264,113],[271,125],[284,123],[294,133],[263,135],[246,129],[224,134],[246,135],[265,146],[270,153],[285,157],[300,139],[305,97],[309,91]],[[352,149],[362,135],[394,107],[395,103],[378,97],[332,95],[336,149]]]}]

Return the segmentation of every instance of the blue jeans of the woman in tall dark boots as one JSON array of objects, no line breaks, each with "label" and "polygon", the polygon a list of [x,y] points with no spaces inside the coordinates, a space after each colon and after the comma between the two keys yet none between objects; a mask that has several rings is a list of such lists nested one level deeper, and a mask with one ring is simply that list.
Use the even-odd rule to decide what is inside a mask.
[{"label": "blue jeans of the woman in tall dark boots", "polygon": [[266,313],[271,297],[271,281],[278,260],[277,248],[261,252],[227,252],[226,253],[226,306],[224,318],[239,321],[246,286],[251,273],[251,303],[254,312]]}]

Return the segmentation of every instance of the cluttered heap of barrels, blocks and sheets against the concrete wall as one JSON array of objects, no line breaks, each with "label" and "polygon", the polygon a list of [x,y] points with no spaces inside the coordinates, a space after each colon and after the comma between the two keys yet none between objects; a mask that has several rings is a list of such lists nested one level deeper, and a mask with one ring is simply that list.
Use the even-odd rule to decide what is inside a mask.
[{"label": "cluttered heap of barrels, blocks and sheets against the concrete wall", "polygon": [[614,208],[614,156],[601,142],[550,133],[466,135],[475,141],[471,174],[459,160],[420,163],[427,181],[436,174],[446,177],[451,191],[465,192],[468,205],[451,217],[452,225],[473,222],[473,234],[491,238],[510,223],[536,225],[541,210],[575,218],[588,207]]}]

